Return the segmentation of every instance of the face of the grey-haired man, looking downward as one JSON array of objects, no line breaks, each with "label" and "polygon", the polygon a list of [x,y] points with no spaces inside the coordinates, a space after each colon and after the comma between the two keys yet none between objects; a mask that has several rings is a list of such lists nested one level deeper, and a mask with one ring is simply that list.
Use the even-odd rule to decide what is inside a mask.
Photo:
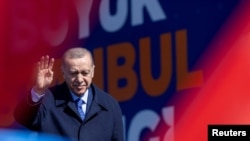
[{"label": "face of the grey-haired man, looking downward", "polygon": [[71,91],[81,96],[92,83],[94,66],[89,56],[82,58],[66,58],[63,76]]}]

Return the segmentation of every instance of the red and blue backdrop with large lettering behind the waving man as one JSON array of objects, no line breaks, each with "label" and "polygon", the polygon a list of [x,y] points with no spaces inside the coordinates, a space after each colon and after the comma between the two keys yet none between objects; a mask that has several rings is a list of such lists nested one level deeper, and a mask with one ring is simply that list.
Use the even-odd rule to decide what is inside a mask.
[{"label": "red and blue backdrop with large lettering behind the waving man", "polygon": [[209,124],[250,124],[250,1],[0,2],[0,126],[42,55],[91,50],[94,83],[120,103],[126,141],[204,141]]}]

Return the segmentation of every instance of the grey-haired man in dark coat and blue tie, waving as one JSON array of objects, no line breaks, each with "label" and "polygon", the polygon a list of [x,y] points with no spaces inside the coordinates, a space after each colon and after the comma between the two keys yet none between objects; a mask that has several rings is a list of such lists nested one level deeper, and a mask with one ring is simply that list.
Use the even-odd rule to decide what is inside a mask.
[{"label": "grey-haired man in dark coat and blue tie, waving", "polygon": [[92,84],[95,65],[90,51],[67,50],[62,57],[65,82],[49,88],[53,64],[49,56],[38,62],[36,83],[16,107],[16,121],[31,130],[77,141],[123,141],[118,102]]}]

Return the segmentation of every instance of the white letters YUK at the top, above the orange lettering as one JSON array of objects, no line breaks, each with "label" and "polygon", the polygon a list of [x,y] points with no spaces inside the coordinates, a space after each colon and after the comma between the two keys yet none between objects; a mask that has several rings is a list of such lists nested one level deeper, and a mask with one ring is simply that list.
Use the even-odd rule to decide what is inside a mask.
[{"label": "white letters YUK at the top, above the orange lettering", "polygon": [[[79,16],[79,39],[90,35],[90,10],[93,0],[75,0]],[[117,32],[120,30],[128,17],[129,1],[117,0],[116,13],[110,12],[110,0],[102,0],[99,7],[99,20],[106,32]],[[131,25],[137,26],[144,23],[144,9],[148,12],[153,22],[165,20],[166,15],[158,0],[131,0]]]}]

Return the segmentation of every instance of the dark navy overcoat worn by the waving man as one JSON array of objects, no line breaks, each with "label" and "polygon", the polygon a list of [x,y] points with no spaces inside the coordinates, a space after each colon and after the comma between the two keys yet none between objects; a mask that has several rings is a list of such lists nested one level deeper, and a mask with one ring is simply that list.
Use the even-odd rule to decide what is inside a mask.
[{"label": "dark navy overcoat worn by the waving man", "polygon": [[29,129],[78,141],[123,141],[118,102],[93,84],[89,90],[92,95],[88,98],[84,121],[78,115],[66,83],[47,90],[38,103],[33,103],[29,94],[16,107],[15,119]]}]

